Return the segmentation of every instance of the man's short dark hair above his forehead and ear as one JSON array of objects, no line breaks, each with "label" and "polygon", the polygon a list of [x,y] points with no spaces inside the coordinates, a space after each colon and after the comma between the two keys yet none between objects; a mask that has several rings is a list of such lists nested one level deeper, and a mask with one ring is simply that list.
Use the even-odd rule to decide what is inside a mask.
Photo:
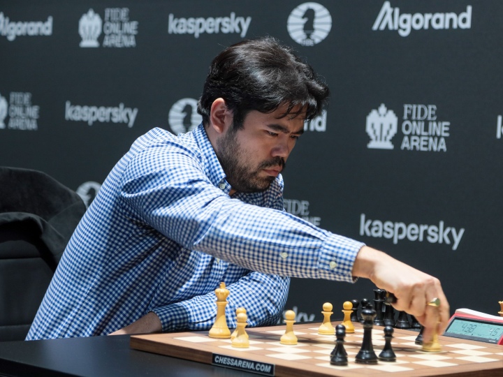
[{"label": "man's short dark hair above his forehead and ear", "polygon": [[227,47],[210,66],[198,113],[209,124],[212,103],[224,98],[240,128],[250,110],[274,112],[288,105],[283,117],[306,111],[306,120],[321,114],[328,87],[290,47],[272,37],[242,40]]}]

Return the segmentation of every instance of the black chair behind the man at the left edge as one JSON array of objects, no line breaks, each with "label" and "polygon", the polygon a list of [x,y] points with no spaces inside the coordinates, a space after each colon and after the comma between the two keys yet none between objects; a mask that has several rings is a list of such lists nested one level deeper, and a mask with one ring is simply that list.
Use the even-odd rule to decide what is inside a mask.
[{"label": "black chair behind the man at the left edge", "polygon": [[85,210],[45,173],[0,167],[0,341],[26,337]]}]

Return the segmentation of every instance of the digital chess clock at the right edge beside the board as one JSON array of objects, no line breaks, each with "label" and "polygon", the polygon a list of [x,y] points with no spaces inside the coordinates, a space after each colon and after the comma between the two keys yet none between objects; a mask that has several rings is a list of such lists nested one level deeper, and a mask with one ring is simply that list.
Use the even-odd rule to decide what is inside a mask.
[{"label": "digital chess clock at the right edge beside the board", "polygon": [[503,317],[484,318],[473,313],[454,313],[444,332],[446,337],[503,344]]}]

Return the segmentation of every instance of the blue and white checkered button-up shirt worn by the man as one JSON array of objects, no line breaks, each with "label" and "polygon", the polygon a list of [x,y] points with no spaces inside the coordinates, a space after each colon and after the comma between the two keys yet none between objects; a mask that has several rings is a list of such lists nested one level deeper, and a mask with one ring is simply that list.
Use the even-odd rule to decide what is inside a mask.
[{"label": "blue and white checkered button-up shirt worn by the man", "polygon": [[221,281],[229,327],[240,306],[249,326],[270,325],[285,276],[353,281],[363,244],[284,212],[281,176],[263,193],[230,190],[202,125],[138,138],[71,237],[27,340],[109,334],[150,311],[163,331],[208,329]]}]

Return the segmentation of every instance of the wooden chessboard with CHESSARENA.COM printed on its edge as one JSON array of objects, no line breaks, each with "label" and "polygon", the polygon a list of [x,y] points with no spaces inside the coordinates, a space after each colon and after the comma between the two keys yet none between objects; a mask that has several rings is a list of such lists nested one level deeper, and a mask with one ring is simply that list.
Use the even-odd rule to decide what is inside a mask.
[{"label": "wooden chessboard with CHESSARENA.COM printed on its edge", "polygon": [[[442,351],[425,353],[415,343],[418,332],[400,329],[393,333],[395,362],[357,364],[355,356],[363,341],[363,327],[359,323],[355,323],[355,332],[345,337],[348,365],[335,366],[330,364],[335,336],[319,335],[319,325],[296,323],[295,346],[279,343],[284,326],[247,328],[249,348],[233,348],[231,339],[212,339],[207,331],[135,335],[130,346],[265,376],[503,376],[503,346],[440,336]],[[377,355],[384,346],[383,336],[384,327],[374,326],[372,343]]]}]

